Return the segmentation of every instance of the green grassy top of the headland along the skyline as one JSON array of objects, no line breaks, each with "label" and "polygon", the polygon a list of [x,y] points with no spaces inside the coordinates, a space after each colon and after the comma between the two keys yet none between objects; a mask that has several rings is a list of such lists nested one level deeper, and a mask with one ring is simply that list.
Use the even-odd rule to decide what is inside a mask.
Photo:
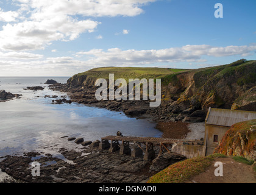
[{"label": "green grassy top of the headland along the skyline", "polygon": [[[94,78],[108,79],[109,74],[115,74],[115,79],[123,78],[126,79],[162,79],[163,85],[168,85],[168,83],[179,82],[177,76],[183,73],[194,73],[194,81],[196,87],[200,88],[208,80],[219,79],[221,77],[232,76],[235,71],[241,73],[244,70],[250,70],[249,74],[240,77],[237,80],[238,85],[243,85],[246,83],[256,82],[256,61],[246,61],[238,60],[236,62],[230,63],[228,65],[214,66],[209,68],[200,69],[170,69],[170,68],[138,68],[138,67],[104,67],[104,68],[94,68],[86,71],[84,73],[76,74],[76,76],[84,76]],[[245,73],[245,72],[244,72]]]}]

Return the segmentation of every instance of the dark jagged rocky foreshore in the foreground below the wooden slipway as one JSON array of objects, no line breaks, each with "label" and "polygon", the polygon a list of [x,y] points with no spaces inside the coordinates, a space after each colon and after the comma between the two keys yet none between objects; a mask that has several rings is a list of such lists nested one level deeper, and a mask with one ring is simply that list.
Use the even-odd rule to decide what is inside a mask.
[{"label": "dark jagged rocky foreshore in the foreground below the wooden slipway", "polygon": [[[120,155],[119,151],[100,151],[99,143],[94,141],[81,151],[61,148],[59,152],[63,159],[36,151],[24,153],[23,156],[1,157],[0,169],[12,177],[2,182],[143,183],[172,163],[186,159],[180,154],[164,153],[152,161],[145,161],[142,156],[133,158]],[[158,152],[158,147],[154,150]],[[40,163],[40,177],[31,174],[33,161]]]}]

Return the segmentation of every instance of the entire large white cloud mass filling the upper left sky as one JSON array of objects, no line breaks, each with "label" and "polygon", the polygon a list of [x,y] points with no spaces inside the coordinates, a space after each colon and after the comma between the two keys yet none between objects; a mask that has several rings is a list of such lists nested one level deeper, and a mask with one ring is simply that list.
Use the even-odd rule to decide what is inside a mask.
[{"label": "entire large white cloud mass filling the upper left sky", "polygon": [[[72,41],[85,32],[94,32],[101,24],[85,17],[136,16],[140,8],[155,0],[13,0],[18,10],[3,12],[7,23],[0,31],[0,49],[26,51],[44,49],[52,41]],[[18,19],[17,19],[18,18]],[[100,37],[99,37],[100,38]]]}]

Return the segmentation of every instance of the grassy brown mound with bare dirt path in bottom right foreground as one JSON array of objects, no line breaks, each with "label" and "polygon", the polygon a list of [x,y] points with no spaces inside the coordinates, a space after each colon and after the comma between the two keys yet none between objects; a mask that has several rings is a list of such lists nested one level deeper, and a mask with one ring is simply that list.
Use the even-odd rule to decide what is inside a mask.
[{"label": "grassy brown mound with bare dirt path in bottom right foreground", "polygon": [[[232,159],[237,161],[237,163],[232,161]],[[229,163],[233,165],[232,167],[232,165],[229,166],[227,164],[227,166],[224,167],[226,172],[232,171],[232,173],[230,174],[233,174],[232,176],[230,176],[230,174],[226,175],[224,177],[224,181],[254,182],[254,175],[256,172],[256,164],[254,163],[254,161],[247,160],[244,157],[227,157],[226,155],[223,154],[213,154],[207,157],[190,158],[170,165],[168,168],[163,169],[163,171],[158,172],[157,174],[152,176],[148,180],[148,183],[183,183],[188,182],[190,181],[191,178],[195,177],[197,177],[197,182],[211,183],[215,181],[219,183],[222,182],[222,179],[216,179],[216,177],[214,179],[212,178],[213,170],[215,169],[215,167],[213,167],[213,163],[215,163],[216,161],[224,161],[225,165],[226,163],[231,161]],[[249,166],[245,168],[245,166],[247,165]],[[212,170],[209,172],[209,169]],[[240,171],[240,169],[243,171]]]}]

